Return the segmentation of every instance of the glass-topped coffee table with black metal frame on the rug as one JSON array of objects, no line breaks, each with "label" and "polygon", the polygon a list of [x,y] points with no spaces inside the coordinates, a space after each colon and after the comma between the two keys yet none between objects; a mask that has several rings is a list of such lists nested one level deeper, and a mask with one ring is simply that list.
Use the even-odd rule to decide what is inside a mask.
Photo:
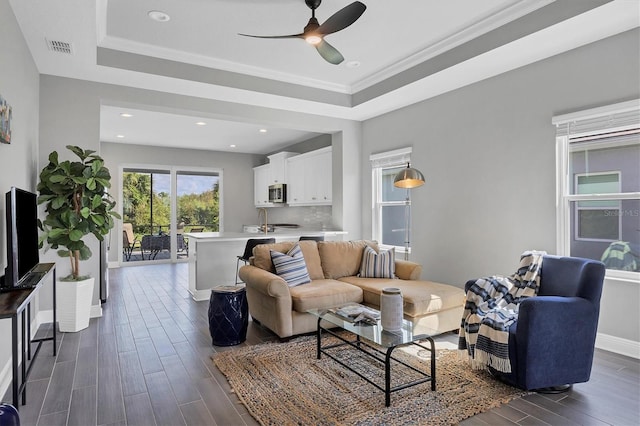
[{"label": "glass-topped coffee table with black metal frame on the rug", "polygon": [[[332,358],[346,369],[354,372],[362,379],[366,380],[385,394],[385,406],[391,404],[391,393],[402,389],[406,389],[411,386],[415,386],[425,382],[431,382],[431,390],[436,390],[436,351],[433,337],[442,334],[438,330],[429,330],[421,327],[419,334],[415,333],[415,325],[410,320],[403,320],[402,330],[399,331],[386,331],[382,329],[380,320],[369,320],[368,322],[354,322],[353,318],[340,315],[338,312],[341,308],[354,308],[362,306],[357,303],[347,303],[333,308],[324,309],[311,309],[308,310],[310,314],[318,317],[318,328],[316,331],[317,338],[317,357],[321,358],[322,354]],[[366,309],[378,313],[372,308],[365,307]],[[378,315],[379,317],[379,315]],[[342,331],[348,331],[349,333],[343,333]],[[331,335],[339,340],[338,343],[329,343],[323,346],[323,335]],[[420,341],[428,342],[428,346],[424,346]],[[393,351],[401,346],[415,345],[431,353],[431,366],[428,372],[424,372],[415,368],[412,365],[393,356]],[[381,367],[384,367],[384,386],[376,383],[369,377],[366,377],[363,372],[358,371],[353,366],[349,365],[345,360],[339,359],[334,356],[334,350],[337,348],[344,348],[350,346],[354,350],[365,354],[371,359],[377,360]],[[401,364],[404,368],[410,369],[414,372],[412,380],[402,381],[396,380],[392,386],[391,366],[392,364]],[[396,378],[397,379],[397,378]]]}]

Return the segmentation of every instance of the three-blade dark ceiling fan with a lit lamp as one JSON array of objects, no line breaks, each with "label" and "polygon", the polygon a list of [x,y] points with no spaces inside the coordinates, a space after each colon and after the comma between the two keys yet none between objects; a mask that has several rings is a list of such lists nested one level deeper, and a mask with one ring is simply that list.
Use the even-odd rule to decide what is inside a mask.
[{"label": "three-blade dark ceiling fan with a lit lamp", "polygon": [[316,50],[327,62],[338,65],[344,61],[344,57],[338,50],[324,40],[324,37],[335,32],[344,30],[353,24],[364,13],[367,6],[359,1],[355,1],[348,6],[343,7],[329,17],[322,25],[316,19],[316,9],[322,3],[322,0],[305,0],[307,6],[311,9],[311,19],[304,27],[300,34],[290,34],[282,36],[259,36],[251,34],[240,34],[246,37],[256,38],[301,38],[307,43],[315,46]]}]

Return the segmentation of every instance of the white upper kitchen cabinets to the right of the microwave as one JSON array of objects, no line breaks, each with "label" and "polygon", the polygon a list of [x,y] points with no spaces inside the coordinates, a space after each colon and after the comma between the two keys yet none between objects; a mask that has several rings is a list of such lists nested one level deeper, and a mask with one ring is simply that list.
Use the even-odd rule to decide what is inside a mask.
[{"label": "white upper kitchen cabinets to the right of the microwave", "polygon": [[287,203],[290,206],[330,205],[331,147],[287,159]]}]

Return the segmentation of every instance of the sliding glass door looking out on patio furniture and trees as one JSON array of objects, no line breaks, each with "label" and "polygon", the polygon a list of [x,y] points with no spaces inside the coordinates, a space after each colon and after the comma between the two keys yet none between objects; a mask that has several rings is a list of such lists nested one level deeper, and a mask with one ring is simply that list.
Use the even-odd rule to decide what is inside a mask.
[{"label": "sliding glass door looking out on patio furniture and trees", "polygon": [[184,233],[219,231],[219,203],[217,171],[124,168],[122,261],[186,259]]}]

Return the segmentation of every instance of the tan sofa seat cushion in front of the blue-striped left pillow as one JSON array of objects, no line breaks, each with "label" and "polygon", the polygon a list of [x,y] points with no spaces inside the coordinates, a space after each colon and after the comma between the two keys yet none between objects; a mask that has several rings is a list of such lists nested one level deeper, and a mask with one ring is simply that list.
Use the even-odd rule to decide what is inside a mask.
[{"label": "tan sofa seat cushion in front of the blue-striped left pillow", "polygon": [[313,280],[309,284],[291,287],[289,292],[296,312],[362,302],[360,287],[336,280]]}]

